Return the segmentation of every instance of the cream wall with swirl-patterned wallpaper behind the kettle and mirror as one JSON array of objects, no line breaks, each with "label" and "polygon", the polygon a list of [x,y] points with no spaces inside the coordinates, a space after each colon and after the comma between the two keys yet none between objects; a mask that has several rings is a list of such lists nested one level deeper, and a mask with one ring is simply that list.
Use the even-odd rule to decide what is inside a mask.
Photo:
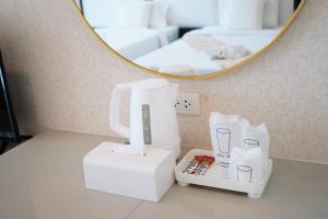
[{"label": "cream wall with swirl-patterned wallpaper behind the kettle and mirror", "polygon": [[[271,155],[328,162],[328,1],[308,0],[270,50],[223,77],[175,81],[201,93],[201,116],[179,116],[183,142],[210,147],[209,114],[265,122]],[[0,1],[1,48],[24,131],[113,135],[108,103],[117,83],[151,76],[110,54],[70,0]]]}]

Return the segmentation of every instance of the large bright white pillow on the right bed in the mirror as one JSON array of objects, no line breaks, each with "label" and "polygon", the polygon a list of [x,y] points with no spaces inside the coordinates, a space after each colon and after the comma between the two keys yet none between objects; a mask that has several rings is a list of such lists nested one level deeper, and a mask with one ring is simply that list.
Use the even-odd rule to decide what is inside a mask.
[{"label": "large bright white pillow on the right bed in the mirror", "polygon": [[229,0],[226,19],[227,28],[262,28],[266,0]]}]

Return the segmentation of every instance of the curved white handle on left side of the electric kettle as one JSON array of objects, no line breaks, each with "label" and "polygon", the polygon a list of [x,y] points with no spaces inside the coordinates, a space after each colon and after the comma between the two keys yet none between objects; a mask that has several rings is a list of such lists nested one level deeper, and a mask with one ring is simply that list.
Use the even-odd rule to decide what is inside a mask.
[{"label": "curved white handle on left side of the electric kettle", "polygon": [[130,91],[131,84],[118,84],[114,88],[112,100],[110,100],[110,112],[109,112],[109,126],[112,130],[120,134],[122,137],[130,138],[130,128],[122,125],[119,119],[119,107],[121,102],[121,93],[124,91]]}]

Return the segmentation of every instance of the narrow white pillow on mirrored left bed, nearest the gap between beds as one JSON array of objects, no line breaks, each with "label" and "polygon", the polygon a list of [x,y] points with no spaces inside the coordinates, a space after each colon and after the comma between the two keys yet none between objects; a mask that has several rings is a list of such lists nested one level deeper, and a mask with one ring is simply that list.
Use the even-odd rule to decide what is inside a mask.
[{"label": "narrow white pillow on mirrored left bed, nearest the gap between beds", "polygon": [[166,27],[167,11],[168,11],[168,3],[154,2],[152,4],[149,26],[153,28]]}]

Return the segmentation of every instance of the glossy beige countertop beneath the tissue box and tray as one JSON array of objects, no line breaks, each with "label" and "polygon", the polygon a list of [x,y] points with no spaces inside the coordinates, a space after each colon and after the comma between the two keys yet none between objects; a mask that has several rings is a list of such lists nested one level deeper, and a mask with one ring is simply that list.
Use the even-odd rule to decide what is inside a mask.
[{"label": "glossy beige countertop beneath the tissue box and tray", "polygon": [[115,141],[48,130],[0,155],[0,218],[328,218],[328,165],[281,159],[259,199],[201,186],[174,185],[157,204],[87,191],[82,158],[104,140]]}]

